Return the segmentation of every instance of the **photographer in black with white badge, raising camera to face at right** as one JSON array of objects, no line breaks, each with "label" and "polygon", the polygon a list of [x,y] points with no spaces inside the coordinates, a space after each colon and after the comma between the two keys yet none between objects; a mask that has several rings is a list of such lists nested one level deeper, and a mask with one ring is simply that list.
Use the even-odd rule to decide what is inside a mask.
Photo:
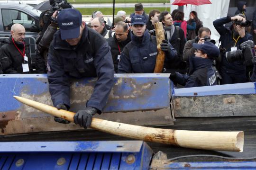
[{"label": "photographer in black with white badge, raising camera to face at right", "polygon": [[[239,49],[239,45],[247,40],[252,40],[252,35],[245,31],[245,16],[238,14],[235,17],[224,17],[213,21],[213,26],[220,34],[221,41],[220,53],[220,74],[222,76],[221,84],[243,83],[247,82],[246,65],[243,61],[229,63],[225,57],[226,52]],[[230,28],[224,24],[232,21]],[[242,26],[241,26],[242,24]]]}]

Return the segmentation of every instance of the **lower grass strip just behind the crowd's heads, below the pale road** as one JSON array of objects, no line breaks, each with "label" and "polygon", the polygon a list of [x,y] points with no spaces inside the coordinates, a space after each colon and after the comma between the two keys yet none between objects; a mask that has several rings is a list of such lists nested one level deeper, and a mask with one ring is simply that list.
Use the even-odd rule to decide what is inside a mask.
[{"label": "lower grass strip just behind the crowd's heads, below the pale road", "polygon": [[[99,10],[103,13],[103,15],[112,15],[113,13],[113,9],[112,8],[77,8],[81,13],[82,15],[91,15],[91,13],[95,10]],[[151,11],[152,9],[158,9],[160,10],[161,12],[164,11],[164,10],[167,10],[170,12],[170,8],[145,8],[145,12],[146,14],[149,13],[149,11]],[[124,10],[126,11],[126,14],[129,15],[131,13],[134,13],[134,8],[115,8],[115,15],[117,14],[117,12],[119,10]]]}]

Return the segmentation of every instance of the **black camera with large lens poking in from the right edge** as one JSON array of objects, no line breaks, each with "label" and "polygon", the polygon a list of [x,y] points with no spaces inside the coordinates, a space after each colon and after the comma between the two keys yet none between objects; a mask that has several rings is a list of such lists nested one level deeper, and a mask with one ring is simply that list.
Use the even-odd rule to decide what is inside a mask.
[{"label": "black camera with large lens poking in from the right edge", "polygon": [[229,63],[244,60],[247,65],[252,65],[252,60],[256,58],[254,42],[248,40],[240,45],[240,50],[229,51],[226,53],[226,59]]}]

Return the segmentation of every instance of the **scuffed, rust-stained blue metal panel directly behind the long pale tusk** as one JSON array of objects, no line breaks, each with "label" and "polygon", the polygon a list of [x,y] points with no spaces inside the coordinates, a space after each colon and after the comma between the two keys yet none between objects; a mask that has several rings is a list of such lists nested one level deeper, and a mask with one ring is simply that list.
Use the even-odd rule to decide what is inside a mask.
[{"label": "scuffed, rust-stained blue metal panel directly behind the long pale tusk", "polygon": [[[72,80],[71,101],[84,107],[90,98],[95,78]],[[171,81],[169,74],[117,74],[115,85],[104,112],[161,109],[170,106]],[[87,92],[88,91],[88,92]],[[1,74],[0,113],[17,110],[22,106],[13,96],[45,97],[48,101],[46,74]],[[51,101],[48,101],[51,104]],[[73,107],[71,107],[71,111]]]}]

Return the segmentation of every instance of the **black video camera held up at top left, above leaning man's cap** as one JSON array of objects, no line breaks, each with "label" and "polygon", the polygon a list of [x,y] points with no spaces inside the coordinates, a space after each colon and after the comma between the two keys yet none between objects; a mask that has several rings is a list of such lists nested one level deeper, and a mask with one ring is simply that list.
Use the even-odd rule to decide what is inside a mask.
[{"label": "black video camera held up at top left, above leaning man's cap", "polygon": [[53,13],[58,10],[66,9],[66,8],[72,8],[69,2],[67,0],[50,0],[50,5],[52,6],[51,9],[47,12],[46,16],[52,21],[57,22],[56,17],[52,17]]}]

